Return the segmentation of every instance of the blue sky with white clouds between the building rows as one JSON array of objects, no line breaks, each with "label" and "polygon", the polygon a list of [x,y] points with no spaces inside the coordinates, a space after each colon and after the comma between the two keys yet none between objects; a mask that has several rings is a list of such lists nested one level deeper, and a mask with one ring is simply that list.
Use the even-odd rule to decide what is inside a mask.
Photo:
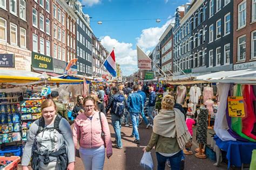
[{"label": "blue sky with white clouds between the building rows", "polygon": [[[177,6],[188,0],[80,0],[85,13],[91,18],[93,33],[109,51],[115,47],[116,60],[123,75],[130,75],[137,68],[138,44],[146,53],[157,45],[161,34],[170,24]],[[139,21],[113,21],[123,19],[156,19]],[[97,21],[102,21],[98,25]]]}]

